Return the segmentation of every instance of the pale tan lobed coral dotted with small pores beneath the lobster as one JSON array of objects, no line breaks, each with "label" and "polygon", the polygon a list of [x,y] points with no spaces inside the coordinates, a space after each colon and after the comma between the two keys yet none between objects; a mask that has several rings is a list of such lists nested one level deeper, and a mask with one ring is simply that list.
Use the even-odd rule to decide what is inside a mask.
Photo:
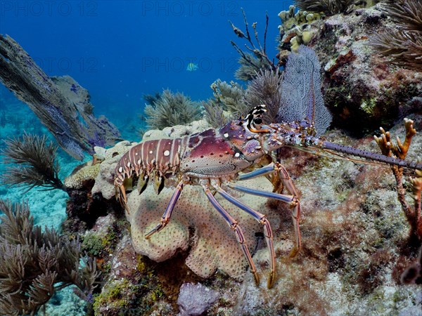
[{"label": "pale tan lobed coral dotted with small pores beneath the lobster", "polygon": [[[271,185],[265,178],[242,182],[242,185],[271,190]],[[156,195],[150,185],[142,195],[136,191],[128,195],[127,204],[131,211],[127,218],[131,224],[134,249],[154,261],[165,261],[174,256],[178,249],[186,250],[190,247],[186,265],[200,277],[210,277],[219,269],[231,277],[241,279],[248,263],[236,241],[234,231],[212,208],[199,186],[186,185],[167,227],[151,239],[145,239],[146,233],[160,222],[173,191],[174,189],[165,188],[160,195]],[[276,211],[268,206],[267,199],[232,193],[262,213]],[[255,234],[263,231],[262,225],[222,197],[216,197],[231,216],[238,220],[253,254],[257,247]],[[277,226],[274,225],[274,217],[279,218],[269,216],[273,230]]]}]

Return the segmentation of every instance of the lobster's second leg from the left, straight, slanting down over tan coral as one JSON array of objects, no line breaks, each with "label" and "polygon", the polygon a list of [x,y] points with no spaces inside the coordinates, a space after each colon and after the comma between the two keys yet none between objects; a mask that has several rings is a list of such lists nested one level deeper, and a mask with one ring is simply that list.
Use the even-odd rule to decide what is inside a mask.
[{"label": "lobster's second leg from the left, straight, slanting down over tan coral", "polygon": [[236,220],[231,217],[231,215],[224,209],[224,207],[219,204],[217,199],[215,199],[214,195],[212,195],[209,183],[203,183],[203,181],[201,181],[201,185],[203,186],[205,195],[207,195],[207,198],[210,200],[212,206],[214,206],[215,209],[219,211],[219,213],[223,216],[224,220],[226,220],[226,223],[229,224],[230,228],[236,233],[236,239],[238,243],[241,244],[243,254],[245,255],[246,260],[249,263],[250,270],[252,271],[253,276],[255,277],[255,283],[259,285],[260,277],[258,276],[257,268],[255,268],[255,263],[253,263],[252,261],[252,256],[250,256],[250,252],[248,246],[246,245],[245,236],[243,235],[241,227],[238,225]]}]

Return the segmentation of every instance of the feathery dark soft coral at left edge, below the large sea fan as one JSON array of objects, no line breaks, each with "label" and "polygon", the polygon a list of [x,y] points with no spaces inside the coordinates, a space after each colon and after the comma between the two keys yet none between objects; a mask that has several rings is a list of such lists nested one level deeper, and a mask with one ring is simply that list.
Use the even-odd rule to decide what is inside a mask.
[{"label": "feathery dark soft coral at left edge, below the large sea fan", "polygon": [[58,178],[58,146],[52,141],[48,142],[45,135],[25,133],[22,138],[11,138],[4,142],[4,162],[15,164],[6,169],[5,185],[26,186],[27,190],[43,187],[44,190],[59,189],[66,192],[65,186]]}]

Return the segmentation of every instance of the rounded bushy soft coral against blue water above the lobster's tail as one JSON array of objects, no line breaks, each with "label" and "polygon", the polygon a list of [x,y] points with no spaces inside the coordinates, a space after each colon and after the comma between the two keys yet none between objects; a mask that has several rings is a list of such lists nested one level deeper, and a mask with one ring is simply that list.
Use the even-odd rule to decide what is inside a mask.
[{"label": "rounded bushy soft coral against blue water above the lobster's tail", "polygon": [[155,97],[152,104],[143,110],[146,123],[153,129],[191,123],[201,117],[199,103],[193,102],[183,93],[172,93],[166,89],[160,98]]}]

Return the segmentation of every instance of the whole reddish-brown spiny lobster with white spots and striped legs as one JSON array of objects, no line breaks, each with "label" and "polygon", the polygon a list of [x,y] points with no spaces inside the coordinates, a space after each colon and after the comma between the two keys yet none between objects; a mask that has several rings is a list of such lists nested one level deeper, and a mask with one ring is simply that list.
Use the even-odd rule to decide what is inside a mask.
[{"label": "whole reddish-brown spiny lobster with white spots and striped legs", "polygon": [[[126,178],[131,178],[132,174],[139,177],[140,194],[146,189],[150,178],[153,178],[158,194],[167,182],[172,182],[167,180],[177,180],[177,187],[160,223],[146,234],[146,239],[165,228],[169,223],[184,185],[200,185],[203,187],[212,206],[219,211],[226,223],[236,233],[236,238],[248,260],[255,282],[259,284],[260,279],[246,245],[242,229],[215,199],[214,194],[218,192],[219,195],[249,213],[263,225],[270,254],[270,272],[267,282],[267,287],[270,288],[274,283],[276,264],[273,233],[269,220],[264,214],[255,211],[230,195],[223,187],[231,187],[231,189],[250,195],[278,199],[288,204],[293,209],[295,250],[299,251],[301,247],[300,202],[297,189],[286,168],[280,162],[274,162],[271,152],[286,145],[305,146],[334,150],[411,169],[422,170],[422,164],[330,143],[322,137],[316,137],[316,131],[310,119],[291,123],[263,124],[262,114],[265,111],[265,105],[259,105],[254,107],[244,119],[231,121],[218,130],[208,129],[184,138],[148,140],[135,145],[122,156],[115,167],[115,187],[117,199],[120,199],[124,208],[129,212],[124,189]],[[410,121],[410,124],[412,123]],[[234,184],[236,180],[247,180],[258,176],[267,176],[274,187],[286,187],[289,194],[281,194],[280,190],[279,192],[267,192]],[[280,183],[282,186],[279,185]]]}]

